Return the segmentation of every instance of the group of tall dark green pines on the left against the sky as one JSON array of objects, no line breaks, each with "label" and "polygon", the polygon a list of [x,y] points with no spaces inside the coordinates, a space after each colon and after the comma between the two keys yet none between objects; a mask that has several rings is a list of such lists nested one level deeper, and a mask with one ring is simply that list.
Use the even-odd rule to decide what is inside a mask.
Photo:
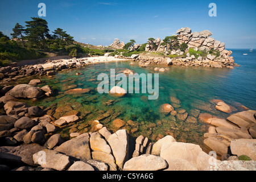
[{"label": "group of tall dark green pines on the left against the sky", "polygon": [[50,34],[48,23],[45,19],[36,17],[31,17],[31,19],[31,21],[25,22],[26,28],[16,23],[13,28],[13,34],[11,34],[13,39],[19,38],[21,40],[22,47],[36,47],[49,51],[50,49],[64,49],[65,46],[73,43],[74,39],[67,34],[67,31],[56,28],[52,32],[53,34]]}]

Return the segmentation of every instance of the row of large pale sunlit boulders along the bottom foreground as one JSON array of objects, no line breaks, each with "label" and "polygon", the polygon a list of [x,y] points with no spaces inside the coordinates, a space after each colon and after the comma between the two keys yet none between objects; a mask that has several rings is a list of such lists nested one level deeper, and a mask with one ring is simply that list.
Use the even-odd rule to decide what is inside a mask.
[{"label": "row of large pale sunlit boulders along the bottom foreground", "polygon": [[[236,140],[241,143],[243,141]],[[130,148],[135,145],[133,156]],[[237,144],[234,144],[237,147]],[[29,151],[28,151],[29,150]],[[139,150],[139,151],[138,151]],[[200,146],[176,142],[167,135],[156,143],[139,136],[129,140],[126,130],[111,133],[106,127],[61,141],[52,135],[47,144],[0,147],[1,161],[16,164],[14,170],[30,171],[158,171],[158,170],[255,170],[255,161],[217,160]],[[228,167],[227,167],[228,166]],[[2,164],[2,168],[8,167]]]}]

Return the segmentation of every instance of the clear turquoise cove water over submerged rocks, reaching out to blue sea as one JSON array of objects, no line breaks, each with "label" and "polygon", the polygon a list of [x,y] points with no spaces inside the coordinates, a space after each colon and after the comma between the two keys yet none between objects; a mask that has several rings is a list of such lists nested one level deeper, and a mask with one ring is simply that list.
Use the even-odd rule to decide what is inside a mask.
[{"label": "clear turquoise cove water over submerged rocks, reaching out to blue sea", "polygon": [[[116,118],[127,122],[125,126],[131,135],[137,137],[143,134],[152,141],[164,135],[173,135],[181,142],[203,144],[203,134],[208,131],[208,125],[199,121],[198,114],[210,113],[221,118],[229,114],[216,110],[212,99],[223,100],[229,105],[236,107],[238,111],[243,110],[244,105],[249,109],[256,109],[256,85],[255,68],[256,53],[249,50],[233,49],[235,63],[241,67],[229,68],[205,68],[205,67],[181,67],[164,65],[150,65],[147,68],[138,67],[137,63],[131,66],[130,61],[119,61],[112,63],[92,64],[80,69],[59,72],[53,78],[42,77],[43,85],[51,85],[55,90],[55,96],[38,101],[25,101],[30,105],[48,107],[48,113],[58,117],[55,109],[61,106],[71,106],[78,111],[81,122],[92,121],[97,117],[110,112],[110,116],[100,122],[108,128],[115,130],[112,121]],[[243,55],[247,52],[248,55]],[[164,73],[159,73],[159,98],[148,100],[148,94],[126,94],[123,97],[112,97],[109,94],[100,94],[96,88],[100,81],[97,76],[100,73],[120,72],[126,68],[136,73],[156,73],[155,67],[168,68]],[[77,76],[76,73],[82,75]],[[92,80],[94,79],[94,80]],[[20,81],[21,82],[21,81]],[[26,82],[26,81],[24,81]],[[27,81],[28,82],[28,81]],[[117,81],[119,82],[119,81]],[[89,88],[90,92],[77,95],[65,95],[64,92],[72,88]],[[170,97],[175,97],[180,104],[171,102]],[[24,100],[23,100],[24,101]],[[108,102],[108,101],[111,101]],[[110,104],[106,104],[110,103]],[[183,121],[172,115],[164,115],[159,112],[160,106],[171,104],[175,110],[184,109],[188,113],[187,119]],[[197,114],[195,114],[197,113]],[[63,114],[63,113],[61,113]],[[133,121],[131,125],[128,121]],[[67,133],[70,128],[64,128]],[[133,130],[135,129],[135,130]],[[81,129],[79,129],[82,131]]]}]

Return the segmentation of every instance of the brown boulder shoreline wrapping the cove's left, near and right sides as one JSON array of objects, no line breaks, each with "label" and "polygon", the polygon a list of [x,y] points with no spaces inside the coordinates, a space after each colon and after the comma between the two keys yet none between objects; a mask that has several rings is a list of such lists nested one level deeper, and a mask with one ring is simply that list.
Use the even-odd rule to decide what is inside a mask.
[{"label": "brown boulder shoreline wrapping the cove's left, near and right sides", "polygon": [[[65,64],[52,68],[3,67],[0,68],[4,77],[1,84],[31,75],[52,77],[58,71],[88,64],[84,61],[85,63],[80,62],[77,65],[73,59],[68,68]],[[176,142],[171,135],[159,138],[156,143],[150,142],[143,135],[132,139],[127,130],[120,129],[112,133],[97,120],[89,123],[91,129],[86,133],[72,130],[73,132],[69,132],[72,139],[64,139],[56,133],[61,127],[86,127],[80,123],[77,113],[71,112],[56,118],[47,114],[43,107],[16,101],[17,98],[34,100],[51,97],[51,87],[36,87],[39,82],[40,80],[31,80],[28,85],[1,87],[0,106],[6,113],[0,115],[1,170],[256,170],[254,110],[246,109],[226,119],[206,113],[199,115],[199,119],[210,126],[208,133],[204,135],[204,143],[221,156],[221,160],[217,160],[205,153],[199,145]],[[86,89],[71,90],[72,93],[88,92]],[[67,94],[72,93],[69,91]],[[225,113],[236,112],[224,101],[212,102],[216,104],[217,110]],[[169,105],[163,105],[161,111],[185,117],[184,112]],[[123,122],[121,119],[113,121],[118,129],[123,126]],[[250,160],[245,161],[244,158]]]}]

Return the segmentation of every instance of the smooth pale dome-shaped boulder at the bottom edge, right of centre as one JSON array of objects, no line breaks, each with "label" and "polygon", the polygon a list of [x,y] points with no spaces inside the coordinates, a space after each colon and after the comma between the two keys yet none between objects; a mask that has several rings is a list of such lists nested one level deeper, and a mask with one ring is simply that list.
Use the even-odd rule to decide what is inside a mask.
[{"label": "smooth pale dome-shaped boulder at the bottom edge, right of centre", "polygon": [[166,160],[159,156],[143,154],[128,160],[123,171],[158,171],[167,167]]}]

